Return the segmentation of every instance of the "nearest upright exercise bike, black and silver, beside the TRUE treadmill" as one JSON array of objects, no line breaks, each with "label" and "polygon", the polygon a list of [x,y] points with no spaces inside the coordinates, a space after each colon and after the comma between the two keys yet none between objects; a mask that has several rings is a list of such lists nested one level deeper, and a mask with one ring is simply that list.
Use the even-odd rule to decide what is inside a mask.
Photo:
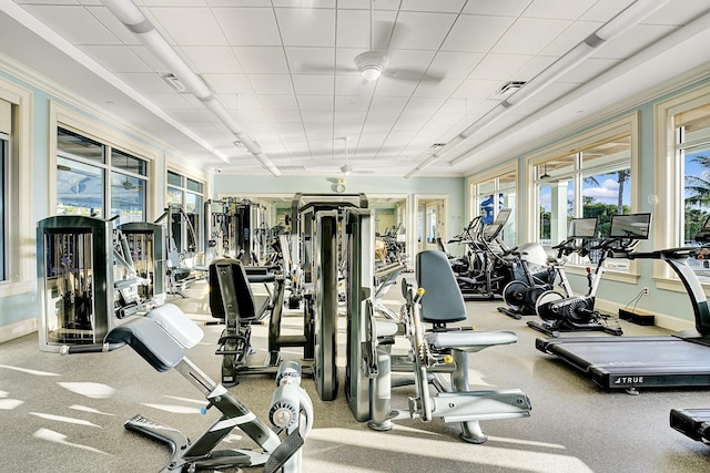
[{"label": "nearest upright exercise bike, black and silver, beside the TRUE treadmill", "polygon": [[[632,226],[625,233],[610,233],[601,241],[585,239],[580,245],[580,256],[592,255],[597,260],[595,270],[587,267],[587,294],[565,297],[550,290],[542,292],[535,305],[535,310],[541,321],[528,321],[528,326],[546,333],[548,337],[559,337],[564,331],[600,330],[611,335],[623,335],[618,319],[595,310],[595,297],[601,281],[604,263],[608,257],[626,258],[633,251],[640,239],[648,238],[650,214],[613,215],[613,220],[629,222]],[[622,225],[613,226],[619,228]],[[642,235],[645,237],[642,237]]]}]

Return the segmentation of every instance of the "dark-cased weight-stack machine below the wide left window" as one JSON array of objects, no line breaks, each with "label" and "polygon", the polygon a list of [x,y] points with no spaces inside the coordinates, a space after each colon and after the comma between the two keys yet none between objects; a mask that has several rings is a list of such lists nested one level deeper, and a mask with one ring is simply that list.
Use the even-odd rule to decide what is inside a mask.
[{"label": "dark-cased weight-stack machine below the wide left window", "polygon": [[[132,233],[139,224],[126,224],[128,237],[113,228],[115,218],[58,215],[38,222],[41,350],[95,347],[116,318],[163,302],[162,273],[156,273],[162,271],[160,257],[155,245],[149,244],[154,243],[152,229]],[[139,249],[136,267],[133,256]]]}]

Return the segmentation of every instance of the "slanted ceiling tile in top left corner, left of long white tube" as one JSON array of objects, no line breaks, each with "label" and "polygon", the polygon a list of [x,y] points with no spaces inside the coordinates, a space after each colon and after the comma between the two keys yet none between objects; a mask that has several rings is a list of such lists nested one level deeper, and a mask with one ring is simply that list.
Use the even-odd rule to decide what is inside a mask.
[{"label": "slanted ceiling tile in top left corner, left of long white tube", "polygon": [[[51,24],[52,30],[74,45],[119,44],[119,40],[83,7],[27,4],[22,8],[38,20]],[[77,28],[78,24],[81,28]]]}]

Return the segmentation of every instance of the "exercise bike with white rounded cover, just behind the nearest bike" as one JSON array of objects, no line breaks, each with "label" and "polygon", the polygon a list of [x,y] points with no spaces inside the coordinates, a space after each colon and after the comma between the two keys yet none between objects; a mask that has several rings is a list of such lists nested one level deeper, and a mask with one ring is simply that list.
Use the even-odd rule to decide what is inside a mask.
[{"label": "exercise bike with white rounded cover, just behind the nearest bike", "polygon": [[[578,239],[597,236],[597,217],[572,218],[567,227],[567,239],[551,248],[557,250],[557,257],[547,257],[539,244],[525,244],[514,251],[519,255],[524,279],[515,279],[506,285],[503,300],[508,307],[498,307],[498,311],[516,320],[523,316],[537,316],[537,299],[544,292],[554,290],[555,284],[559,284],[564,297],[572,296],[574,291],[564,269],[566,257],[580,250]],[[547,269],[532,273],[530,264],[540,265],[540,261],[547,265]]]}]

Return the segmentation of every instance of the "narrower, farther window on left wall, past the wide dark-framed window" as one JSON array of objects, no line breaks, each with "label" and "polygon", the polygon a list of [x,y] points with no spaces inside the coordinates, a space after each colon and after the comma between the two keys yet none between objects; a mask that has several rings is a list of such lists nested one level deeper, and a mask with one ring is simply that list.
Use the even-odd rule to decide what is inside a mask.
[{"label": "narrower, farther window on left wall, past the wide dark-framed window", "polygon": [[196,251],[200,249],[203,227],[203,193],[204,185],[201,182],[176,172],[168,171],[165,202],[173,207],[173,212],[171,212],[172,222],[170,224],[173,239],[171,245],[174,245],[174,248],[179,251]]}]

